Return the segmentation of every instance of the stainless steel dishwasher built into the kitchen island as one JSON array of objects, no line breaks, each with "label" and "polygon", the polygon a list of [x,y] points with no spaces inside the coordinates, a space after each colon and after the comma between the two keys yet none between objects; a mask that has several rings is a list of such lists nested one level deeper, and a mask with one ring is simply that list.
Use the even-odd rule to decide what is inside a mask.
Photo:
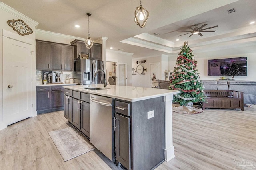
[{"label": "stainless steel dishwasher built into the kitchen island", "polygon": [[114,160],[114,100],[90,96],[90,142],[111,161]]}]

